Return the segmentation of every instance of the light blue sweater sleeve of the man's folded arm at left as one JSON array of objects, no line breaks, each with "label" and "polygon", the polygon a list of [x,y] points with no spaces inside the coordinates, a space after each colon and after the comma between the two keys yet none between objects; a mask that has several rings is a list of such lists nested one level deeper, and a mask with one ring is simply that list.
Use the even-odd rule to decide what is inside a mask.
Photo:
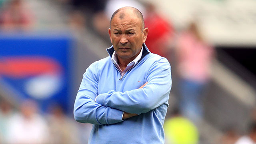
[{"label": "light blue sweater sleeve of the man's folded arm at left", "polygon": [[74,118],[77,122],[91,124],[114,124],[122,121],[121,110],[102,106],[94,101],[98,93],[98,71],[91,64],[84,73],[74,103]]}]

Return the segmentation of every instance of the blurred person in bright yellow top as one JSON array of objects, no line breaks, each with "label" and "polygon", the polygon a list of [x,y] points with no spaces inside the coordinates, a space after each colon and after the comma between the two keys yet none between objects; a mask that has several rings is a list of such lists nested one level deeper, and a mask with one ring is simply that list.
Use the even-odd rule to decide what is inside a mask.
[{"label": "blurred person in bright yellow top", "polygon": [[182,117],[178,109],[174,109],[170,119],[164,122],[166,144],[198,144],[199,134],[196,126]]}]

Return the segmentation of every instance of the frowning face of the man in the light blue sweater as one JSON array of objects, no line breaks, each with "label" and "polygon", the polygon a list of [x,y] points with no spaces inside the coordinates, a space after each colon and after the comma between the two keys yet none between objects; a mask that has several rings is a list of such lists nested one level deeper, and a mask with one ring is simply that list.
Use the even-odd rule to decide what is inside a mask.
[{"label": "frowning face of the man in the light blue sweater", "polygon": [[148,28],[142,31],[142,22],[133,12],[119,12],[108,29],[111,43],[120,60],[134,60],[146,41]]}]

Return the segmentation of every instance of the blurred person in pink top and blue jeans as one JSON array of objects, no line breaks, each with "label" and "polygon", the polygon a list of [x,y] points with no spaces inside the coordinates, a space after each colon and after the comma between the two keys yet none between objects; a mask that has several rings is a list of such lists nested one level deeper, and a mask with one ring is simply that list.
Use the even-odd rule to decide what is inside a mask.
[{"label": "blurred person in pink top and blue jeans", "polygon": [[199,122],[203,116],[201,96],[210,79],[214,50],[204,41],[194,22],[182,32],[177,45],[180,110],[190,120]]}]

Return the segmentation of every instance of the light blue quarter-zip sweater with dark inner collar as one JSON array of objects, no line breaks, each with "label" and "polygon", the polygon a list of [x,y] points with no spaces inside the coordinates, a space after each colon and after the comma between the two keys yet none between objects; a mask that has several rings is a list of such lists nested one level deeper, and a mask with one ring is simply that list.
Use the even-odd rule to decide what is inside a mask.
[{"label": "light blue quarter-zip sweater with dark inner collar", "polygon": [[[121,78],[111,61],[113,46],[107,51],[110,56],[86,69],[74,104],[76,121],[93,124],[88,144],[164,144],[172,85],[168,60],[143,44],[142,58]],[[123,112],[138,116],[122,120]]]}]

